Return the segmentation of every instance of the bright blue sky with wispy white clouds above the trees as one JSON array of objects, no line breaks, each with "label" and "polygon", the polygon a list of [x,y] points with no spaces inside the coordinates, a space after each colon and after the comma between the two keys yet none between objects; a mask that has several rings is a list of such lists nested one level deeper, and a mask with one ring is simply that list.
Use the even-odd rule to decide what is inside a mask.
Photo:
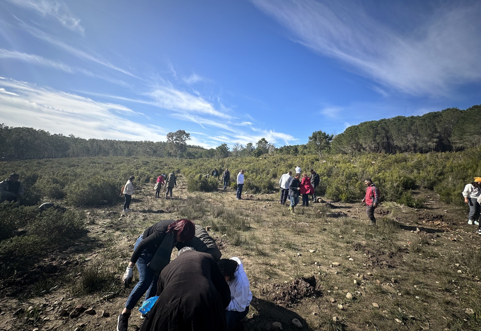
[{"label": "bright blue sky with wispy white clouds above the trees", "polygon": [[0,122],[307,142],[481,101],[481,1],[0,0]]}]

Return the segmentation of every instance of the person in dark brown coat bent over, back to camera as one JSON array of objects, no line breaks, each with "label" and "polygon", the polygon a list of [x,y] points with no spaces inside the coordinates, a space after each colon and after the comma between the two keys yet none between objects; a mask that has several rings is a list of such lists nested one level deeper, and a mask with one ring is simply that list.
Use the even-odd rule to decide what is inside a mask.
[{"label": "person in dark brown coat bent over, back to camera", "polygon": [[140,331],[226,331],[229,286],[212,255],[185,247],[162,270]]}]

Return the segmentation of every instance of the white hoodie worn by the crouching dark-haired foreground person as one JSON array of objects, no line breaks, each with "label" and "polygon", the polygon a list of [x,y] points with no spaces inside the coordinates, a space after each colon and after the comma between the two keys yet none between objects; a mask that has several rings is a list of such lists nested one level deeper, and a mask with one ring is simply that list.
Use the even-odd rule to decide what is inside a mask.
[{"label": "white hoodie worn by the crouching dark-haired foreground person", "polygon": [[234,279],[227,283],[230,288],[230,303],[226,310],[244,311],[245,307],[249,306],[252,300],[252,292],[249,288],[249,280],[244,271],[244,266],[239,257],[231,257],[239,264],[239,268],[234,274]]}]

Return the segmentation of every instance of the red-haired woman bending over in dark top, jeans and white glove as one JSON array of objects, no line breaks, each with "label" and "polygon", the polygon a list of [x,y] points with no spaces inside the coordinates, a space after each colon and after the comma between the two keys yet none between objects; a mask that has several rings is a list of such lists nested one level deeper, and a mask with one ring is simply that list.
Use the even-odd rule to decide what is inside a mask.
[{"label": "red-haired woman bending over in dark top, jeans and white glove", "polygon": [[[177,242],[188,242],[194,237],[195,225],[188,219],[166,219],[155,223],[139,236],[134,246],[122,282],[128,287],[133,278],[133,267],[139,270],[139,282],[135,285],[118,317],[117,331],[127,331],[130,311],[146,293],[145,299],[155,296],[157,281],[162,269],[169,264],[172,249]],[[142,316],[143,318],[143,316]]]}]

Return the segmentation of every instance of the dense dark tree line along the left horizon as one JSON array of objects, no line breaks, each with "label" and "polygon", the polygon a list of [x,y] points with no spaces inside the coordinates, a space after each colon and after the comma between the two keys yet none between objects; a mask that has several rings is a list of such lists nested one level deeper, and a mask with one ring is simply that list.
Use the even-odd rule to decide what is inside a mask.
[{"label": "dense dark tree line along the left horizon", "polygon": [[[31,127],[7,127],[0,124],[2,159],[44,159],[81,156],[153,156],[177,157],[178,151],[164,141],[122,141],[82,139],[74,135],[50,134]],[[186,145],[183,158],[214,157],[200,146]]]}]

